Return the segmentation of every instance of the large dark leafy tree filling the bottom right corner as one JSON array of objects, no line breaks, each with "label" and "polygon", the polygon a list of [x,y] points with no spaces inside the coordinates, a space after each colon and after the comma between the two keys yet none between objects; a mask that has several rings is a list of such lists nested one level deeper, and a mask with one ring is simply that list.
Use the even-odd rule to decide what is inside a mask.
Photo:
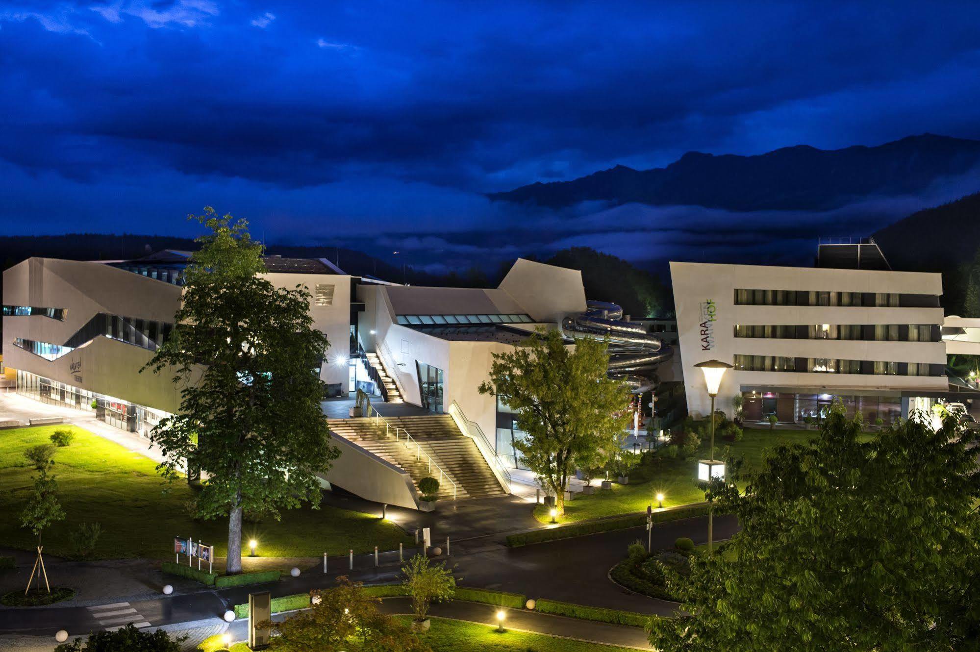
[{"label": "large dark leafy tree filling the bottom right corner", "polygon": [[725,555],[668,583],[688,617],[657,619],[667,652],[963,650],[980,640],[975,433],[919,414],[870,441],[840,403],[811,446],[776,446]]}]

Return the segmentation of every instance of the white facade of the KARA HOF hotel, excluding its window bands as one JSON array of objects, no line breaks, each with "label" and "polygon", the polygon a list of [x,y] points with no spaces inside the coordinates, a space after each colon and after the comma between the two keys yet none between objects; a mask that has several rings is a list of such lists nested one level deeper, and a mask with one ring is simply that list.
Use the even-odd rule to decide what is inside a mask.
[{"label": "white facade of the KARA HOF hotel, excluding its window bands", "polygon": [[[853,306],[736,306],[736,289],[942,294],[942,276],[911,272],[785,268],[754,265],[670,263],[677,330],[688,412],[707,415],[711,399],[700,362],[733,364],[736,354],[794,358],[838,358],[886,362],[946,364],[943,342],[894,342],[735,337],[736,325],[809,326],[817,324],[943,324],[942,308],[869,308]],[[702,309],[713,301],[711,342],[703,341]],[[745,372],[729,370],[722,378],[715,408],[731,413],[731,398],[743,385],[827,390],[880,389],[944,391],[945,377]]]}]

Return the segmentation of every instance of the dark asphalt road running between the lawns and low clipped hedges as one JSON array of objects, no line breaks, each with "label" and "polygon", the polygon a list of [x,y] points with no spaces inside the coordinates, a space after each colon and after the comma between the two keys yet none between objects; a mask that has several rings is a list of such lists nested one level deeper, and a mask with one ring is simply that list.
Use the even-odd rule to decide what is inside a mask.
[{"label": "dark asphalt road running between the lawns and low clipped hedges", "polygon": [[[719,540],[731,536],[738,528],[730,516],[714,521],[715,538]],[[654,547],[670,547],[678,536],[689,536],[701,543],[707,540],[707,532],[706,517],[662,524],[654,530]],[[646,531],[639,527],[520,548],[507,548],[492,537],[474,538],[454,545],[453,556],[448,562],[455,566],[456,575],[465,586],[668,615],[675,608],[673,603],[631,594],[607,577],[613,565],[625,556],[626,546],[645,535]],[[307,570],[301,577],[287,577],[272,584],[161,596],[126,603],[118,611],[134,609],[135,612],[129,612],[133,618],[139,616],[134,622],[147,622],[153,626],[220,617],[233,605],[247,602],[250,592],[259,590],[270,590],[273,596],[302,593],[329,586],[337,575],[347,575],[366,583],[393,582],[399,574],[397,562],[397,553],[394,553],[394,556],[382,559],[383,566],[375,569],[372,558],[359,557],[354,572],[350,572],[342,560],[331,559],[328,576],[315,568]],[[80,634],[111,627],[103,622],[104,619],[100,620],[98,614],[98,608],[92,607],[2,608],[0,631],[50,634],[52,630],[67,628],[72,634]],[[122,614],[114,618],[124,621],[127,617],[128,614]]]}]

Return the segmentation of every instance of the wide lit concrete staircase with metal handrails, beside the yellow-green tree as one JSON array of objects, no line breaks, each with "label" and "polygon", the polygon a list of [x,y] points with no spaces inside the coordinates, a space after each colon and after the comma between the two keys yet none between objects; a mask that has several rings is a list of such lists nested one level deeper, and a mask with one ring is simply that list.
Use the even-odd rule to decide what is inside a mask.
[{"label": "wide lit concrete staircase with metal handrails, beside the yellow-green tree", "polygon": [[[476,448],[476,443],[460,432],[449,415],[387,417],[390,426],[405,428],[417,442],[405,445],[405,433],[396,440],[394,432],[385,434],[385,424],[370,417],[329,419],[330,430],[356,443],[378,457],[404,469],[418,485],[425,476],[439,479],[435,466],[429,470],[428,455],[446,476],[456,482],[456,499],[506,495],[497,476]],[[423,454],[422,454],[423,453]],[[453,500],[453,483],[442,481],[439,500]]]}]

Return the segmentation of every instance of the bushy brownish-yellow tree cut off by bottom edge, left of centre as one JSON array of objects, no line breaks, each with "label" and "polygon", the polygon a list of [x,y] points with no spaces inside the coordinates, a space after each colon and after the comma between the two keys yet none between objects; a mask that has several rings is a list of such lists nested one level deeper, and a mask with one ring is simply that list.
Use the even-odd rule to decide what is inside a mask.
[{"label": "bushy brownish-yellow tree cut off by bottom edge, left of centre", "polygon": [[364,591],[361,582],[337,577],[339,586],[312,591],[313,608],[281,623],[267,621],[271,627],[270,649],[282,652],[425,652],[429,648],[407,627],[391,616],[381,614],[379,598]]}]

